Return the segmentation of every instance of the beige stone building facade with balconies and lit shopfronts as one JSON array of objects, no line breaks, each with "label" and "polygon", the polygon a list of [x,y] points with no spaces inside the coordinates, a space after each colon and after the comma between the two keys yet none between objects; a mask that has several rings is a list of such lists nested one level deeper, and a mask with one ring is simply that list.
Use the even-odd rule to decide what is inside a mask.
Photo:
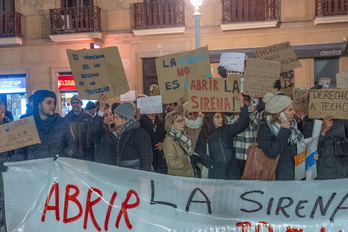
[{"label": "beige stone building facade with balconies and lit shopfronts", "polygon": [[[117,46],[137,95],[157,82],[156,57],[196,47],[189,0],[0,2],[0,97],[15,115],[38,89],[56,92],[58,112],[66,111],[74,92],[67,49]],[[252,56],[286,41],[302,64],[296,87],[348,72],[348,0],[203,0],[199,12],[200,46],[209,49],[214,76],[223,52]]]}]

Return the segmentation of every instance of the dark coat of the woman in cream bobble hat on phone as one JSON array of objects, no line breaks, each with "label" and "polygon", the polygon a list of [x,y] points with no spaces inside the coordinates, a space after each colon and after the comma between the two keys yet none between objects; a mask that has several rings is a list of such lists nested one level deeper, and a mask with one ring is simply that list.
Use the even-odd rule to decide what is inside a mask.
[{"label": "dark coat of the woman in cream bobble hat on phone", "polygon": [[272,159],[279,157],[276,170],[276,180],[295,180],[295,160],[297,155],[297,145],[291,145],[288,140],[291,130],[280,128],[275,136],[266,121],[262,121],[257,134],[257,140],[262,151]]}]

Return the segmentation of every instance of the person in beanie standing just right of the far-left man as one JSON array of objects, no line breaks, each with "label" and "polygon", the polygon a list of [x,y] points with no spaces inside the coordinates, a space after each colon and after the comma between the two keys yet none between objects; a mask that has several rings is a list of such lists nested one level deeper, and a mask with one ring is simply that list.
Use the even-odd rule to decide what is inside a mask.
[{"label": "person in beanie standing just right of the far-left man", "polygon": [[72,110],[65,115],[64,119],[69,123],[77,143],[78,152],[76,157],[83,160],[92,160],[94,145],[92,138],[87,138],[87,131],[88,126],[93,121],[93,116],[82,109],[83,102],[77,95],[74,95],[70,102]]}]

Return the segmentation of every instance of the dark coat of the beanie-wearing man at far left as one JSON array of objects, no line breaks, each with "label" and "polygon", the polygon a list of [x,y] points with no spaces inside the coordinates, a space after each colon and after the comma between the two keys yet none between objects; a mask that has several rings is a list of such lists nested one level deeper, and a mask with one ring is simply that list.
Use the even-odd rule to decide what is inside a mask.
[{"label": "dark coat of the beanie-wearing man at far left", "polygon": [[16,149],[11,161],[48,158],[57,154],[74,156],[77,146],[66,120],[59,114],[46,120],[35,120],[41,143]]}]

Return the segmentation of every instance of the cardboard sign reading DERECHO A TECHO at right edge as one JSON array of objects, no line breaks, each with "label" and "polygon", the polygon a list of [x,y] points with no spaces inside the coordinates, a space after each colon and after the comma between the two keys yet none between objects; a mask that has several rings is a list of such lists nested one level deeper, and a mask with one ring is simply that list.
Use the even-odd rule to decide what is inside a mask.
[{"label": "cardboard sign reading DERECHO A TECHO at right edge", "polygon": [[313,89],[309,92],[309,118],[324,118],[333,115],[348,119],[347,89]]}]

